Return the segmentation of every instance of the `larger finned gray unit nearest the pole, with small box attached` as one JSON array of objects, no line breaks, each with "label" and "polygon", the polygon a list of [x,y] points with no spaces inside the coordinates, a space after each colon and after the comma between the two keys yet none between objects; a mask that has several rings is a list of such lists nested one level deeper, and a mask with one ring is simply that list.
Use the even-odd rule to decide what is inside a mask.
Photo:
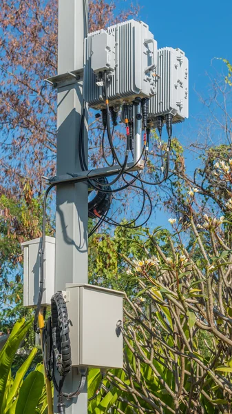
[{"label": "larger finned gray unit nearest the pole, with small box attached", "polygon": [[143,21],[129,20],[90,33],[85,39],[84,99],[91,108],[105,108],[99,79],[102,68],[107,70],[110,106],[118,108],[136,97],[152,97],[156,93],[156,66],[157,42]]}]

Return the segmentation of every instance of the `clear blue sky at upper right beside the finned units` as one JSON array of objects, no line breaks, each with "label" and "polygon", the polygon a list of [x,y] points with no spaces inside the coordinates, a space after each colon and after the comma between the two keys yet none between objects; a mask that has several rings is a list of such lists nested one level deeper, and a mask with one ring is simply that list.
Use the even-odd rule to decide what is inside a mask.
[{"label": "clear blue sky at upper right beside the finned units", "polygon": [[[125,7],[129,0],[125,1]],[[226,66],[214,57],[222,57],[232,62],[232,1],[231,0],[140,0],[139,18],[149,25],[149,29],[158,41],[158,48],[171,46],[182,49],[189,59],[189,119],[173,128],[173,134],[184,141],[193,140],[198,124],[196,119],[206,115],[206,110],[195,92],[209,95],[210,81],[208,73],[226,74]],[[122,7],[122,2],[118,3]],[[213,67],[212,67],[213,64]],[[188,151],[185,157],[194,168],[196,161]],[[156,212],[152,226],[168,226],[169,215]],[[150,223],[151,224],[151,223]]]}]

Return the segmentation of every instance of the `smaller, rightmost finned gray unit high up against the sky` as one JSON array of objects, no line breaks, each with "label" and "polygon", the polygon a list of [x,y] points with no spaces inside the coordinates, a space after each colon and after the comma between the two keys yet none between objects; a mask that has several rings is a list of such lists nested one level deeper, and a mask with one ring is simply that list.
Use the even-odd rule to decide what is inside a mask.
[{"label": "smaller, rightmost finned gray unit high up against the sky", "polygon": [[156,95],[149,101],[149,119],[173,115],[173,124],[189,117],[189,61],[180,49],[158,50]]}]

